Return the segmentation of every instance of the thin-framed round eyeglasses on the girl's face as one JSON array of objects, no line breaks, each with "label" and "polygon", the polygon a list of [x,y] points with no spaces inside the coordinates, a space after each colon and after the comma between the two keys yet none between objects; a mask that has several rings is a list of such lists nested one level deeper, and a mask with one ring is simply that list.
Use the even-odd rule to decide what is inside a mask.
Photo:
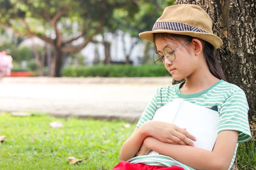
[{"label": "thin-framed round eyeglasses on the girl's face", "polygon": [[[191,41],[191,39],[189,41]],[[175,60],[175,53],[174,52],[176,50],[178,50],[179,48],[181,48],[182,46],[188,44],[189,41],[187,41],[183,45],[180,45],[175,50],[172,50],[172,48],[170,48],[169,46],[164,47],[164,55],[160,55],[159,53],[154,53],[154,55],[153,55],[154,64],[159,65],[159,66],[163,66],[164,65],[164,56],[166,57],[166,59],[168,59],[170,61]]]}]

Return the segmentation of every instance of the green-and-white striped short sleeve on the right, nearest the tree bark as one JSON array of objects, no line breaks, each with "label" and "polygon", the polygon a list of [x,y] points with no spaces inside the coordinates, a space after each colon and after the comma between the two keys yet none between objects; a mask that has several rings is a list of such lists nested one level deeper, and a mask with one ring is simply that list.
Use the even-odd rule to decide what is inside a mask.
[{"label": "green-and-white striped short sleeve on the right, nearest the tree bark", "polygon": [[233,92],[221,106],[218,132],[238,131],[238,143],[249,141],[252,136],[248,123],[248,110],[243,90]]}]

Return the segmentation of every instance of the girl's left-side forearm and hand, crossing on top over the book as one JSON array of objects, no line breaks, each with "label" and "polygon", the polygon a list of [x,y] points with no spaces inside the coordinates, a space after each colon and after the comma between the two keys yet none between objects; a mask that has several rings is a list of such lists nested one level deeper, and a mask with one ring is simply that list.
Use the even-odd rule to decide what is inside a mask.
[{"label": "girl's left-side forearm and hand, crossing on top over the book", "polygon": [[120,151],[120,160],[129,160],[138,153],[145,138],[151,136],[163,143],[193,146],[189,139],[196,140],[185,129],[159,121],[148,121],[140,128],[136,127]]}]

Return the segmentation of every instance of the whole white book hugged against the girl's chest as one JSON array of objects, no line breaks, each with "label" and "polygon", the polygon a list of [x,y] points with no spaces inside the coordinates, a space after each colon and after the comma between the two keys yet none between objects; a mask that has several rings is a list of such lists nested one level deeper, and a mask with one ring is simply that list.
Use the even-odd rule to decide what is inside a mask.
[{"label": "whole white book hugged against the girl's chest", "polygon": [[[191,140],[195,147],[212,151],[218,135],[218,117],[218,111],[175,99],[159,108],[152,120],[186,128],[186,131],[196,138],[196,141]],[[148,155],[158,154],[154,151],[148,153]]]}]

